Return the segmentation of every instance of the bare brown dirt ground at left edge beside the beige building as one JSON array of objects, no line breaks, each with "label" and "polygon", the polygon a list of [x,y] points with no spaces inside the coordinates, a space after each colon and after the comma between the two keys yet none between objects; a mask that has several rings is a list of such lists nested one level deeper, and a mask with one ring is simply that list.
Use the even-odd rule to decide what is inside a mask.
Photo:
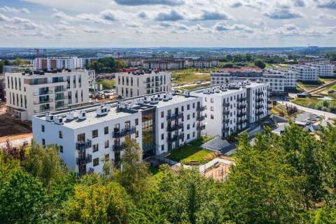
[{"label": "bare brown dirt ground at left edge beside the beige building", "polygon": [[6,113],[6,104],[0,103],[0,143],[32,137],[31,123],[12,118]]}]

